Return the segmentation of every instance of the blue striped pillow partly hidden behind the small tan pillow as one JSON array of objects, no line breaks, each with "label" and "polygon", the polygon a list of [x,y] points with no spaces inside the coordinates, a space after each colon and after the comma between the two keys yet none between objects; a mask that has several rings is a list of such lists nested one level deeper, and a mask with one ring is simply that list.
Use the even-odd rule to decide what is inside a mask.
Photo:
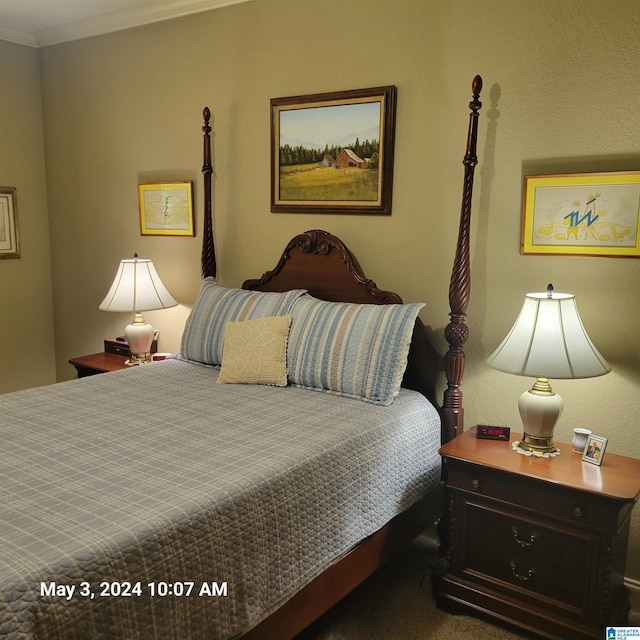
[{"label": "blue striped pillow partly hidden behind the small tan pillow", "polygon": [[205,278],[185,323],[180,355],[186,360],[220,365],[227,322],[287,315],[304,293],[303,289],[284,293],[226,289],[213,278]]}]

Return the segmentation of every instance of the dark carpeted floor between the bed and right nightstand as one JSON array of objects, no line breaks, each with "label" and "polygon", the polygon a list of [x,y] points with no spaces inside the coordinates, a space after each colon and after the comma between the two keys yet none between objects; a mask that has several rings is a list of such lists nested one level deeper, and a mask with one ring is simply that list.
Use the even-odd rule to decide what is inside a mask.
[{"label": "dark carpeted floor between the bed and right nightstand", "polygon": [[[522,640],[515,627],[438,609],[432,597],[432,550],[412,547],[338,603],[296,640]],[[639,619],[631,624],[639,624]],[[604,631],[603,631],[604,637]]]}]

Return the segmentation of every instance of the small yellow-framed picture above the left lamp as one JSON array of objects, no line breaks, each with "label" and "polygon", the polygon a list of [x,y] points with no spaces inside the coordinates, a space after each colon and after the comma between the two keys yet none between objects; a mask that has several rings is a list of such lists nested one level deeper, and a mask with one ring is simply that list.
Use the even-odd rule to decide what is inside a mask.
[{"label": "small yellow-framed picture above the left lamp", "polygon": [[138,185],[140,233],[143,236],[193,236],[193,182]]}]

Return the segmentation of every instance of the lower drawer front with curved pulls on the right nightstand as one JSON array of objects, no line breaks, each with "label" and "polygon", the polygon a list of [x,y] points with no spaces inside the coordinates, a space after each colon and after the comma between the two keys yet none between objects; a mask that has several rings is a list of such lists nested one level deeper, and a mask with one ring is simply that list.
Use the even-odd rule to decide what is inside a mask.
[{"label": "lower drawer front with curved pulls on the right nightstand", "polygon": [[599,536],[579,529],[549,526],[493,503],[458,498],[459,531],[490,532],[468,536],[455,565],[462,575],[492,589],[530,592],[541,606],[567,607],[586,615],[590,585],[595,583]]}]

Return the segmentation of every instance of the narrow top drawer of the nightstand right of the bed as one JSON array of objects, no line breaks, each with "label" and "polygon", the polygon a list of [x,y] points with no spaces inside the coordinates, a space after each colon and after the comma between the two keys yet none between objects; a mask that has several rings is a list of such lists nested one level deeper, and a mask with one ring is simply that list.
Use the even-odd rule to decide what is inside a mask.
[{"label": "narrow top drawer of the nightstand right of the bed", "polygon": [[[517,454],[513,454],[517,455]],[[515,476],[473,464],[448,464],[448,484],[479,496],[490,496],[522,509],[616,533],[619,528],[619,506],[602,497],[566,487],[541,483],[526,476]]]}]

